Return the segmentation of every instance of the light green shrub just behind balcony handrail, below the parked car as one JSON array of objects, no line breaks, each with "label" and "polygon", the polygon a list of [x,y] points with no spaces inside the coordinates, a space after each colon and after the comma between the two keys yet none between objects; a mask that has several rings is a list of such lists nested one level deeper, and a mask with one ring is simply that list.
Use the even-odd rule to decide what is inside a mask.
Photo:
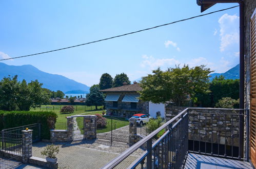
[{"label": "light green shrub just behind balcony handrail, below the parked car", "polygon": [[[151,133],[155,131],[156,129],[160,128],[161,125],[163,125],[165,121],[158,116],[156,119],[149,119],[149,122],[146,124],[147,132]],[[157,135],[154,136],[154,138],[158,139],[165,133],[164,129],[160,131]]]}]

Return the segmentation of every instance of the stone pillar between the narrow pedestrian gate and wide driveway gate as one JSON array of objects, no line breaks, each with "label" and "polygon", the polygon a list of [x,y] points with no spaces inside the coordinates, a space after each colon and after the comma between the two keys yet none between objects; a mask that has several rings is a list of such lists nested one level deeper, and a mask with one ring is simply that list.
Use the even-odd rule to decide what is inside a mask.
[{"label": "stone pillar between the narrow pedestrian gate and wide driveway gate", "polygon": [[88,140],[96,139],[96,116],[84,116],[84,138]]}]

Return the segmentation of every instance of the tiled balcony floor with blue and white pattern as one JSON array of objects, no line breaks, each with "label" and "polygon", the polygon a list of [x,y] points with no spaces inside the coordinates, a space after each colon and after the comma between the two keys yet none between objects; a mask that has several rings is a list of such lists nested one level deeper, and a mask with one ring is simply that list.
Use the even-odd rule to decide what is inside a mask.
[{"label": "tiled balcony floor with blue and white pattern", "polygon": [[249,162],[189,153],[184,168],[253,168]]}]

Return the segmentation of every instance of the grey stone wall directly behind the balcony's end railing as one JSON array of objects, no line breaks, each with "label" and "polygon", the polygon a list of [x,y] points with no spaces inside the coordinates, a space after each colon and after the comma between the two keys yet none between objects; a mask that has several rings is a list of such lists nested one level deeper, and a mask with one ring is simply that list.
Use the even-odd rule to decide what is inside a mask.
[{"label": "grey stone wall directly behind the balcony's end railing", "polygon": [[[170,120],[184,107],[166,107]],[[239,111],[231,109],[190,108],[189,140],[239,146]],[[225,115],[227,114],[227,115]],[[232,142],[233,141],[233,142]]]}]

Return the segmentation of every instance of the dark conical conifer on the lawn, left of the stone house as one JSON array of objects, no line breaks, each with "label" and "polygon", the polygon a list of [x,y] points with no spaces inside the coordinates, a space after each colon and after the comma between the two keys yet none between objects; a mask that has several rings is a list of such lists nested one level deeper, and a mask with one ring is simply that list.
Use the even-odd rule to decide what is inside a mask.
[{"label": "dark conical conifer on the lawn, left of the stone house", "polygon": [[86,95],[86,101],[87,106],[95,105],[95,108],[97,110],[97,106],[103,105],[104,103],[104,95],[102,92],[100,92],[99,85],[93,85],[90,88],[90,93]]}]

